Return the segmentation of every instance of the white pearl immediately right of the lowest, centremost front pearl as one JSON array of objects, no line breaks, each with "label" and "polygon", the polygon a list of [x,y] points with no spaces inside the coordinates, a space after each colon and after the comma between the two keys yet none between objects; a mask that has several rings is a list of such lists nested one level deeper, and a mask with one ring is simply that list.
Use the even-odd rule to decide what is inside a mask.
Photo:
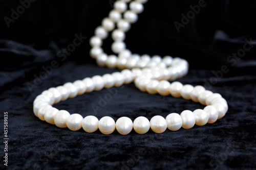
[{"label": "white pearl immediately right of the lowest, centremost front pearl", "polygon": [[138,134],[145,134],[150,130],[150,121],[146,117],[139,116],[133,122],[133,129]]}]

